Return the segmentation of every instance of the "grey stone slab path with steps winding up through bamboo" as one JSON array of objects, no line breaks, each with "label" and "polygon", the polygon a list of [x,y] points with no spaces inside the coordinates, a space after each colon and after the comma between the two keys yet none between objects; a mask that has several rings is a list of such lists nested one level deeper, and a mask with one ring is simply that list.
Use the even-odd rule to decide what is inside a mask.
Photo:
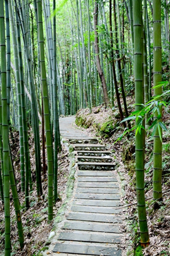
[{"label": "grey stone slab path with steps winding up through bamboo", "polygon": [[77,184],[71,210],[53,255],[120,256],[122,222],[115,164],[107,147],[60,118],[60,133],[77,152]]}]

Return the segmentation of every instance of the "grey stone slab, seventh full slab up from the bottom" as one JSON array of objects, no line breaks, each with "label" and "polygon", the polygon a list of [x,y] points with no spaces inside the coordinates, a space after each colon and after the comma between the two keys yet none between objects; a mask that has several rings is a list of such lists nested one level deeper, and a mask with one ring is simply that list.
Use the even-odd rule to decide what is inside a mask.
[{"label": "grey stone slab, seventh full slab up from the bottom", "polygon": [[97,193],[77,193],[75,198],[78,199],[100,199],[100,200],[119,200],[119,194],[97,194]]}]

